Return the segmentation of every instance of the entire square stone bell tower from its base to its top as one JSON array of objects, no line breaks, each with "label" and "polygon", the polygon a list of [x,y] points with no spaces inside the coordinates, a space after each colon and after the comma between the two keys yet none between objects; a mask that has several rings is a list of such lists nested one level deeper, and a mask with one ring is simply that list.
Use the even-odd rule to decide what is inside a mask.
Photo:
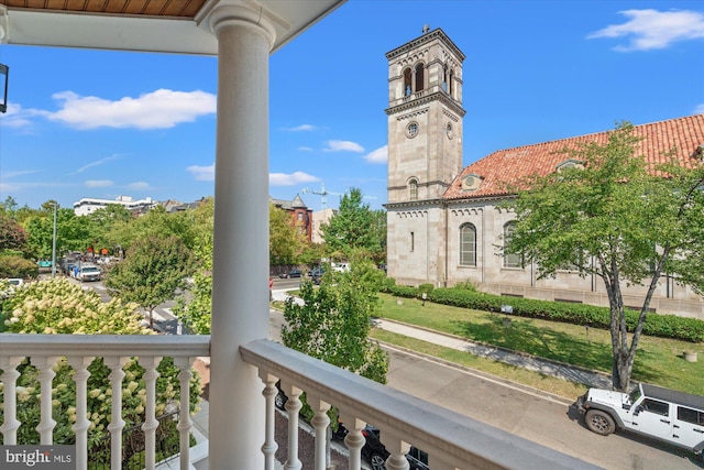
[{"label": "entire square stone bell tower from its base to its top", "polygon": [[440,29],[388,59],[387,274],[400,285],[444,285],[442,195],[462,171],[464,54]]}]

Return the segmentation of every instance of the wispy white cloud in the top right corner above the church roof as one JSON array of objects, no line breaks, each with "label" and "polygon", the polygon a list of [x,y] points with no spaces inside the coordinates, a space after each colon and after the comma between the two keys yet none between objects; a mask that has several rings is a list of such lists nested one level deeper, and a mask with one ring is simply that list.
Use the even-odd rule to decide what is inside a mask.
[{"label": "wispy white cloud in the top right corner above the church roof", "polygon": [[704,14],[695,11],[625,10],[630,20],[624,24],[612,24],[587,35],[595,37],[630,36],[628,45],[617,45],[615,51],[650,51],[666,48],[675,41],[704,37]]}]

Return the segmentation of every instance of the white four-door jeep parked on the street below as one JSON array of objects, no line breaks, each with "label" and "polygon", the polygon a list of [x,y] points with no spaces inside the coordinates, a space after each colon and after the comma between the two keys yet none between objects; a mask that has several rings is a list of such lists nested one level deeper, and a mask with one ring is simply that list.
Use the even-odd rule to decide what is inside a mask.
[{"label": "white four-door jeep parked on the street below", "polygon": [[639,384],[630,393],[590,389],[576,401],[590,430],[618,429],[685,448],[704,460],[704,396]]}]

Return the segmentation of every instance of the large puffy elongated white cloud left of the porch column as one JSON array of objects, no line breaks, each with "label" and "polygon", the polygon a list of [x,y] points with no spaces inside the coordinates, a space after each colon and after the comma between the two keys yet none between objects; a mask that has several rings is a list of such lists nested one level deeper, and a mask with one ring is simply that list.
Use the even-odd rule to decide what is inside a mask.
[{"label": "large puffy elongated white cloud left of the porch column", "polygon": [[62,101],[62,109],[46,117],[76,129],[167,129],[216,112],[216,96],[205,91],[158,89],[118,101],[63,91],[53,98]]}]

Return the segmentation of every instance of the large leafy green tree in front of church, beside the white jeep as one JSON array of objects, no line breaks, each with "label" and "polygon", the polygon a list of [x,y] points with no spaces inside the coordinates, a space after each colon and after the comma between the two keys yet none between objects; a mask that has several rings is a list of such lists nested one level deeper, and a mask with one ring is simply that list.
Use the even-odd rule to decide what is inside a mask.
[{"label": "large leafy green tree in front of church, beside the white jeep", "polygon": [[[540,278],[564,266],[603,280],[610,307],[614,389],[626,391],[650,299],[662,274],[704,286],[704,167],[648,165],[624,122],[605,144],[565,150],[582,165],[535,176],[506,206],[516,222],[504,252],[537,263]],[[583,166],[583,167],[582,167]],[[622,286],[646,285],[634,331],[626,327]]]}]

